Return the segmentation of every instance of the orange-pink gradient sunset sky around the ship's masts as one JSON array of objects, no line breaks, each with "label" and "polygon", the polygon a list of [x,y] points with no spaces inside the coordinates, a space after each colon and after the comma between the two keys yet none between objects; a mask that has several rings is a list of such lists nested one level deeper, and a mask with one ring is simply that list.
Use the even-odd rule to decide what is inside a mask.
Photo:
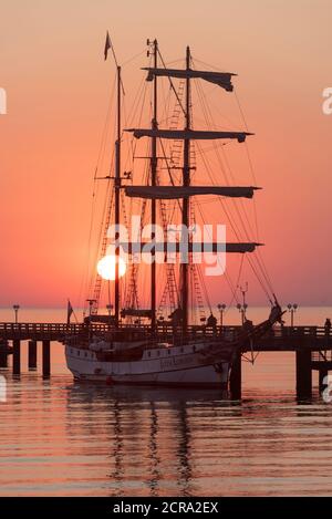
[{"label": "orange-pink gradient sunset sky around the ship's masts", "polygon": [[[157,37],[167,61],[189,43],[239,74],[273,286],[283,303],[331,304],[331,24],[330,0],[2,0],[0,304],[79,303],[112,75],[106,29],[121,62]],[[138,79],[144,65],[143,54]],[[250,298],[266,302],[253,287]]]}]

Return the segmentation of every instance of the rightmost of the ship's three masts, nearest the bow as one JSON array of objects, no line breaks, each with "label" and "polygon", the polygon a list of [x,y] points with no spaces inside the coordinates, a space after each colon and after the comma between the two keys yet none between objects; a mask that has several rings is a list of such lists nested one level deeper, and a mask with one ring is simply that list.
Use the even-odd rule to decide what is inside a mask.
[{"label": "rightmost of the ship's three masts, nearest the bow", "polygon": [[[187,46],[186,52],[186,71],[190,69],[190,49]],[[190,75],[186,77],[186,124],[185,131],[188,132],[191,128],[190,121]],[[183,168],[183,186],[188,187],[190,185],[190,139],[185,138],[184,141],[184,168]],[[189,197],[183,198],[183,232],[187,233],[187,240],[189,227]],[[183,263],[180,264],[180,281],[181,281],[181,311],[183,311],[183,334],[187,332],[188,325],[188,273],[189,273],[189,253],[186,258],[181,258]]]}]

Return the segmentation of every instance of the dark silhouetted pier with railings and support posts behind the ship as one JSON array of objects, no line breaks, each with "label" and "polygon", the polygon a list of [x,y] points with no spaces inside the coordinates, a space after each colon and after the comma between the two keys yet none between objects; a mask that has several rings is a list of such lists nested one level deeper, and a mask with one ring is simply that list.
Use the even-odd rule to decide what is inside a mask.
[{"label": "dark silhouetted pier with railings and support posts behind the ship", "polygon": [[[123,325],[125,328],[125,325]],[[135,325],[131,325],[135,328]],[[141,331],[148,326],[136,325]],[[189,326],[190,339],[207,335],[225,334],[232,336],[241,326],[217,326],[215,330],[206,326]],[[51,374],[51,343],[63,343],[66,335],[82,335],[89,332],[98,335],[110,330],[108,324],[66,324],[66,323],[0,323],[0,367],[7,367],[8,355],[12,354],[12,372],[21,372],[21,342],[28,341],[28,367],[37,367],[37,347],[42,343],[42,373]],[[174,341],[175,330],[165,322],[157,324],[157,336],[162,341]],[[332,370],[332,334],[324,326],[276,326],[263,338],[252,344],[247,344],[242,354],[248,352],[294,352],[295,381],[298,397],[310,397],[312,394],[312,371],[319,372],[320,390],[323,388],[324,377]],[[230,377],[230,392],[234,398],[241,397],[241,355],[234,363]]]}]

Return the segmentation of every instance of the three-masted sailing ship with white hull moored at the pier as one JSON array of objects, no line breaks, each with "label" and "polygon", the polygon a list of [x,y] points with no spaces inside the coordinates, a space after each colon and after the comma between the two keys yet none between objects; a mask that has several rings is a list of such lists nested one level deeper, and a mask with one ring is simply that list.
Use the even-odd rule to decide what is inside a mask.
[{"label": "three-masted sailing ship with white hull moored at the pier", "polygon": [[[107,34],[105,58],[111,48],[110,37]],[[227,390],[232,363],[241,355],[241,351],[248,343],[252,344],[258,338],[266,334],[273,324],[281,319],[281,308],[273,295],[271,301],[271,312],[268,319],[257,325],[251,321],[243,319],[242,326],[228,329],[218,326],[216,319],[210,318],[201,323],[189,321],[190,314],[190,273],[193,264],[190,263],[194,253],[194,243],[188,238],[187,261],[183,261],[178,267],[178,299],[174,303],[173,312],[165,320],[165,316],[158,315],[157,308],[157,269],[156,251],[157,243],[155,227],[157,224],[157,207],[162,208],[166,204],[177,204],[180,209],[180,222],[183,229],[190,226],[190,200],[193,197],[201,195],[214,195],[225,198],[252,198],[253,186],[197,186],[193,185],[193,143],[197,141],[226,142],[237,141],[243,143],[250,134],[249,132],[231,132],[216,129],[194,129],[191,117],[191,83],[193,81],[203,81],[211,83],[226,92],[232,92],[232,76],[236,74],[228,72],[203,71],[193,66],[193,59],[189,48],[186,50],[186,65],[184,69],[169,69],[165,65],[158,49],[157,41],[148,41],[148,55],[151,58],[149,66],[145,68],[147,72],[147,82],[153,85],[153,108],[149,127],[128,128],[126,132],[133,135],[134,139],[144,137],[149,139],[148,178],[145,185],[126,185],[126,180],[132,178],[132,174],[124,173],[122,167],[122,139],[123,128],[121,122],[122,115],[122,69],[116,62],[117,70],[117,113],[116,113],[116,142],[115,142],[115,173],[114,176],[107,176],[112,184],[112,204],[113,221],[115,229],[118,229],[121,221],[121,197],[128,199],[143,200],[151,207],[152,243],[149,269],[149,308],[142,309],[137,303],[137,278],[139,276],[137,266],[132,262],[131,269],[127,269],[132,282],[134,295],[127,307],[124,307],[124,298],[121,293],[121,272],[120,259],[122,247],[120,243],[120,232],[114,235],[114,290],[108,289],[110,294],[113,291],[113,304],[108,304],[110,313],[101,315],[98,313],[98,303],[101,294],[101,276],[96,277],[94,297],[89,299],[90,311],[84,319],[84,326],[81,334],[71,335],[70,328],[65,339],[65,357],[68,367],[73,373],[75,380],[91,381],[104,384],[132,384],[132,385],[158,385],[177,387],[217,387]],[[114,53],[113,46],[112,51]],[[114,54],[115,58],[115,54]],[[115,59],[116,61],[116,59]],[[159,64],[159,61],[162,62]],[[173,125],[172,127],[160,127],[158,122],[158,82],[162,79],[169,82],[170,91],[176,97],[176,107],[183,114],[183,127]],[[176,82],[180,82],[176,87]],[[177,127],[175,127],[177,126]],[[175,141],[180,143],[181,160],[180,164],[168,164],[164,154],[159,157],[160,149],[164,149],[163,143]],[[162,160],[167,163],[168,173],[179,170],[180,179],[176,184],[175,176],[172,177],[168,185],[162,185],[159,164]],[[110,206],[111,207],[111,206]],[[110,226],[111,208],[106,227]],[[163,219],[163,218],[162,218]],[[164,221],[165,224],[165,221]],[[165,227],[165,226],[164,226]],[[103,240],[101,257],[105,255],[106,241]],[[134,256],[134,246],[137,243],[127,243],[128,258]],[[138,243],[138,248],[144,243]],[[162,243],[162,250],[165,243]],[[252,253],[259,247],[257,242],[226,242],[222,243],[226,253],[247,255]],[[174,246],[175,253],[179,253],[179,241]],[[211,243],[211,252],[218,250],[218,243]],[[136,250],[137,251],[137,250]],[[139,250],[141,251],[141,250]],[[175,264],[165,264],[167,270],[166,289],[172,292],[176,284]],[[159,288],[159,287],[158,287]],[[113,313],[111,311],[113,310]]]}]

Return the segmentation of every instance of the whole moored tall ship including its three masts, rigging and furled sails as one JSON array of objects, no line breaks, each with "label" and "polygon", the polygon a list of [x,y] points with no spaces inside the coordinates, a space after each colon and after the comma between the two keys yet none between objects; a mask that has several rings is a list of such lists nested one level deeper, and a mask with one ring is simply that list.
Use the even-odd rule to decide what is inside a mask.
[{"label": "whole moored tall ship including its three masts, rigging and furled sails", "polygon": [[[98,249],[100,269],[93,297],[87,300],[89,315],[84,319],[81,335],[71,336],[69,329],[65,340],[66,363],[80,381],[227,390],[232,362],[241,349],[279,321],[281,309],[272,294],[272,308],[266,321],[253,325],[243,319],[242,326],[236,330],[217,325],[212,313],[208,319],[190,320],[190,315],[204,307],[198,289],[199,281],[204,282],[204,276],[201,266],[197,266],[194,257],[206,250],[206,243],[198,242],[194,237],[197,220],[193,200],[197,197],[214,197],[225,204],[228,198],[232,201],[250,199],[257,189],[256,186],[229,183],[224,186],[206,183],[197,185],[193,180],[200,166],[195,149],[200,142],[211,142],[215,146],[216,142],[245,143],[252,134],[247,131],[194,128],[194,82],[205,82],[232,92],[232,76],[236,74],[196,69],[189,48],[186,50],[185,68],[168,68],[157,41],[147,43],[149,66],[144,70],[147,73],[146,84],[152,85],[148,108],[151,124],[123,129],[122,69],[117,65],[107,33],[105,59],[112,49],[116,62],[115,158],[111,173],[104,177],[110,189]],[[168,101],[162,81],[167,82]],[[164,95],[166,104],[173,106],[172,115],[167,114],[165,106],[159,108],[160,95]],[[137,167],[141,175],[143,172],[141,184],[134,184],[135,165],[132,172],[124,172],[123,168],[122,144],[125,135],[132,138],[129,149],[145,164],[144,168],[141,165]],[[137,157],[138,141],[147,142],[143,157]],[[207,168],[210,167],[208,163]],[[129,205],[126,206],[126,203]],[[121,226],[128,226],[128,211],[138,214],[137,231],[142,231],[144,222],[148,224],[148,237],[145,232],[145,239],[138,240],[137,235],[129,229],[129,240],[123,239]],[[169,242],[166,230],[176,219],[180,232]],[[156,226],[162,228],[162,237]],[[113,233],[110,233],[111,227]],[[208,241],[207,250],[212,256],[221,251],[224,255],[243,257],[255,255],[259,247],[255,241],[218,242],[214,238]],[[137,256],[142,261],[143,253],[149,257],[144,266],[137,261]],[[180,261],[177,262],[178,257]],[[145,290],[148,287],[147,308],[139,304],[141,277]],[[100,314],[98,311],[103,278],[106,279],[108,297],[106,314]],[[216,277],[215,282],[218,283],[219,279]],[[197,291],[195,299],[193,294]],[[163,305],[167,307],[166,313],[165,309],[163,312]]]}]

